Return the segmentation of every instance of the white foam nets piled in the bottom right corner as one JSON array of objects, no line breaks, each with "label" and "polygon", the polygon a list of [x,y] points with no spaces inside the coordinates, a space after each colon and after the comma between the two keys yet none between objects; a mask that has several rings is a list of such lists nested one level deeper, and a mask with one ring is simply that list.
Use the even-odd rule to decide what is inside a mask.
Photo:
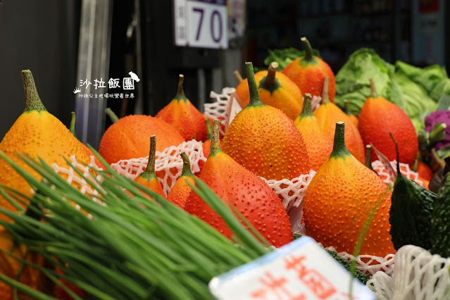
[{"label": "white foam nets piled in the bottom right corner", "polygon": [[419,246],[402,246],[391,276],[375,273],[366,286],[378,300],[450,299],[450,258],[432,255]]}]

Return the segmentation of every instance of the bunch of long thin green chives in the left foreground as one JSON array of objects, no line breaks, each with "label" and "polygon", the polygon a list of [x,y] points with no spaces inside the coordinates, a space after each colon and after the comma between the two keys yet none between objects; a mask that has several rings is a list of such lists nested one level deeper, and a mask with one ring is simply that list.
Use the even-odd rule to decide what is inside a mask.
[{"label": "bunch of long thin green chives in the left foreground", "polygon": [[[21,156],[42,175],[42,180],[37,180],[0,152],[0,158],[8,161],[36,191],[23,210],[17,205],[20,195],[6,187],[0,189],[19,208],[18,213],[0,208],[0,213],[13,220],[0,223],[15,242],[26,244],[30,251],[46,258],[51,268],[35,268],[55,284],[61,285],[58,279],[62,277],[92,299],[212,299],[208,290],[212,277],[271,251],[268,242],[248,223],[253,232],[247,230],[239,222],[245,222],[244,218],[234,211],[236,218],[201,180],[196,180],[194,192],[224,218],[235,232],[234,241],[159,194],[118,175],[91,150],[107,166],[108,170],[98,171],[103,180],[77,173],[96,189],[98,196],[82,194],[44,161]],[[93,201],[93,197],[100,201]],[[73,203],[82,209],[77,210]],[[54,267],[61,268],[63,275]],[[4,275],[0,280],[35,299],[52,299]],[[74,299],[80,299],[63,288]]]}]

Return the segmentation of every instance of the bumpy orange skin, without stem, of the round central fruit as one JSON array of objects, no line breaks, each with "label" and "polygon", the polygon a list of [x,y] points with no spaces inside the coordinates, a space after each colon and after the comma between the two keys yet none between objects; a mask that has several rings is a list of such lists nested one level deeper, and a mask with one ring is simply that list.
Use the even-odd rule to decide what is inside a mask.
[{"label": "bumpy orange skin, without stem, of the round central fruit", "polygon": [[272,106],[247,106],[240,111],[222,144],[237,163],[265,179],[291,180],[310,170],[308,151],[294,121]]}]

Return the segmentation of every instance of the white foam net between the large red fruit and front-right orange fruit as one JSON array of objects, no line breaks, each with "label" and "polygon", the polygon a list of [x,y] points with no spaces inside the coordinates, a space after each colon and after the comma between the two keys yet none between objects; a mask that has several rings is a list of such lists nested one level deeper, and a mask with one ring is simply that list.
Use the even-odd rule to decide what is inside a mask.
[{"label": "white foam net between the large red fruit and front-right orange fruit", "polygon": [[297,235],[304,235],[303,217],[303,199],[306,189],[315,175],[314,170],[310,170],[308,174],[300,175],[292,180],[266,180],[269,187],[272,187],[278,197],[285,206],[289,220],[291,221],[292,232]]}]

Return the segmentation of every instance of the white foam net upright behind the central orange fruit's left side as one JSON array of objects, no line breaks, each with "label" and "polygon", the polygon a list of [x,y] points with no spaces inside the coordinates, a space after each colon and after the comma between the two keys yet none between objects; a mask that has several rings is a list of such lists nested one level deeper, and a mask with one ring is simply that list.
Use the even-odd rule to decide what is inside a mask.
[{"label": "white foam net upright behind the central orange fruit's left side", "polygon": [[220,125],[221,136],[225,135],[226,125],[230,118],[228,115],[230,98],[231,94],[234,92],[236,92],[234,87],[224,87],[221,94],[211,91],[210,96],[212,99],[215,99],[215,101],[204,104],[204,114],[206,117],[223,121]]}]

